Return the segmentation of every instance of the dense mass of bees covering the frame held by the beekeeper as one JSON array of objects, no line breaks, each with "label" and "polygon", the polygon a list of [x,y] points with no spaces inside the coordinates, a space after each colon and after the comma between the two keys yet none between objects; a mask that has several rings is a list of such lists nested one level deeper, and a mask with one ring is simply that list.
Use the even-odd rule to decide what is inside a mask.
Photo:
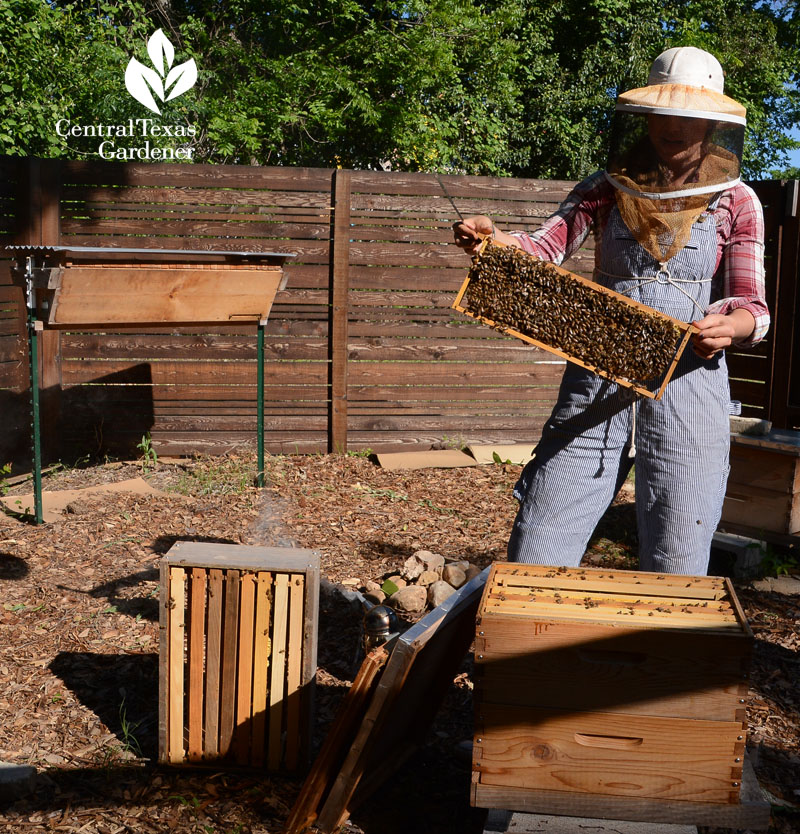
[{"label": "dense mass of bees covering the frame held by the beekeeper", "polygon": [[472,315],[512,329],[612,377],[643,383],[664,374],[680,329],[511,246],[487,244],[462,299]]}]

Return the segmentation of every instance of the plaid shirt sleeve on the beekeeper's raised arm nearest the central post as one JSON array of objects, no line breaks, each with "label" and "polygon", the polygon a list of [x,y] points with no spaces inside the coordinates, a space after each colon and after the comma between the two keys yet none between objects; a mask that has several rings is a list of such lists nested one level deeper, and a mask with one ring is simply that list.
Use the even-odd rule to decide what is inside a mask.
[{"label": "plaid shirt sleeve on the beekeeper's raised arm nearest the central post", "polygon": [[561,265],[580,247],[601,207],[607,205],[609,189],[602,171],[578,183],[535,232],[511,232],[522,248],[550,263]]}]

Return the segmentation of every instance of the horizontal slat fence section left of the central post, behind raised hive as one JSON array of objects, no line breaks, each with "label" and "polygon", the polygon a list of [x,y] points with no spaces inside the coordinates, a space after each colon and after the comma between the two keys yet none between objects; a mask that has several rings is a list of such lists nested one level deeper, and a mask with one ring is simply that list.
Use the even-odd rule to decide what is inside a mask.
[{"label": "horizontal slat fence section left of the central post, behind raised hive", "polygon": [[[331,175],[235,166],[64,166],[61,245],[295,255],[265,332],[270,451],[327,444]],[[65,333],[61,356],[64,399],[74,397],[77,406],[65,432],[70,445],[94,440],[131,449],[145,432],[162,455],[255,442],[252,326]],[[126,379],[131,373],[137,379]],[[86,437],[86,426],[94,426],[94,438]]]}]

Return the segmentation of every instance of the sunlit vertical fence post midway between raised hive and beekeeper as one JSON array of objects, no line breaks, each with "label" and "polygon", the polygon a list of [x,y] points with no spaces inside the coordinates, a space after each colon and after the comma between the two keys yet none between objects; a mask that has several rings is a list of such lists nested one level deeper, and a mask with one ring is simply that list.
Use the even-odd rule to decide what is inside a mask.
[{"label": "sunlit vertical fence post midway between raised hive and beekeeper", "polygon": [[347,342],[350,289],[350,171],[337,169],[331,182],[330,240],[330,411],[328,451],[347,451]]}]

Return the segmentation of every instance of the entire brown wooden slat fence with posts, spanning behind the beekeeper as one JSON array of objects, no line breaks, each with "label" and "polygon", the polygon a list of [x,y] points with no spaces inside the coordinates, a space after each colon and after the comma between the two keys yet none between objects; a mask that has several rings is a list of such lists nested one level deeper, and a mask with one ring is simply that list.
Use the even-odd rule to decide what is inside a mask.
[{"label": "entire brown wooden slat fence with posts, spanning behind the beekeeper", "polygon": [[[266,329],[270,452],[538,438],[563,363],[450,309],[468,266],[451,225],[457,212],[484,213],[503,228],[534,229],[572,183],[12,158],[0,159],[0,177],[3,245],[296,254]],[[794,373],[800,404],[785,348],[800,300],[797,220],[786,210],[793,184],[755,185],[767,218],[770,303],[785,305],[791,334],[774,329],[756,350],[731,357],[733,395],[745,414],[782,414],[790,425],[800,408],[776,405],[775,385],[788,390]],[[30,428],[24,299],[4,249],[0,257],[5,460],[27,448]],[[589,274],[591,261],[589,244],[567,266]],[[46,451],[130,452],[145,433],[162,455],[252,445],[256,370],[255,330],[45,331]]]}]

